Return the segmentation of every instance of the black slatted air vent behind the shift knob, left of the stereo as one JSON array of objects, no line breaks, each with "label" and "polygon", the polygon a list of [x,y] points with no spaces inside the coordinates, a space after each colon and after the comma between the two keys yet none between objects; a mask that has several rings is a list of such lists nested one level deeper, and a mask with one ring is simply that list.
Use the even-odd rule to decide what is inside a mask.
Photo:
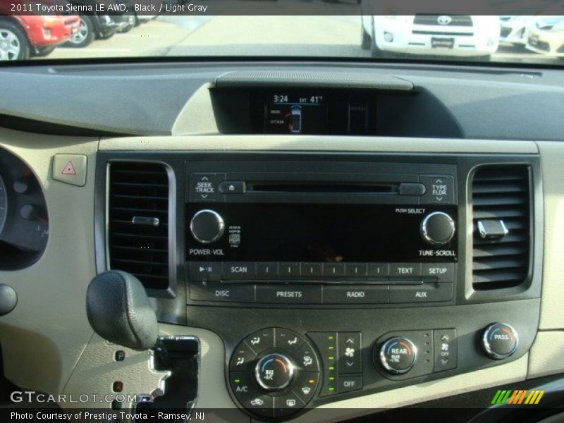
[{"label": "black slatted air vent behind the shift knob, left of the stereo", "polygon": [[161,164],[113,162],[109,171],[109,264],[145,288],[168,288],[168,174]]}]

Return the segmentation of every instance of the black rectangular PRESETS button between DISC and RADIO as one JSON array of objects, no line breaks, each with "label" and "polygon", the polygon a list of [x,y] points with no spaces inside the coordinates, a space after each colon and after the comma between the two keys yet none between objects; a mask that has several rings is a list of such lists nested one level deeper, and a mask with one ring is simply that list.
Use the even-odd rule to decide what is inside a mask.
[{"label": "black rectangular PRESETS button between DISC and RADIO", "polygon": [[257,285],[257,302],[321,304],[321,285]]}]

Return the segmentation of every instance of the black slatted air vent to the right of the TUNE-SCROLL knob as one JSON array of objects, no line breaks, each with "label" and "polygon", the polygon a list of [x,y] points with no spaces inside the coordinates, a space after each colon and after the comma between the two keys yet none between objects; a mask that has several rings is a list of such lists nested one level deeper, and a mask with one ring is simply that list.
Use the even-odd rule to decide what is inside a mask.
[{"label": "black slatted air vent to the right of the TUNE-SCROLL knob", "polygon": [[528,166],[484,166],[472,181],[474,290],[519,286],[531,248]]}]

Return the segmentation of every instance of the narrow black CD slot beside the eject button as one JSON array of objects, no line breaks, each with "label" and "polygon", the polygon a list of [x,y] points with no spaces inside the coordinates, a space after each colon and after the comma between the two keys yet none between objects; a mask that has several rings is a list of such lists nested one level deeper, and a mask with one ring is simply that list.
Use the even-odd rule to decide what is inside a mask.
[{"label": "narrow black CD slot beside the eject button", "polygon": [[247,182],[247,192],[256,194],[380,194],[399,195],[398,183],[312,183],[312,182]]}]

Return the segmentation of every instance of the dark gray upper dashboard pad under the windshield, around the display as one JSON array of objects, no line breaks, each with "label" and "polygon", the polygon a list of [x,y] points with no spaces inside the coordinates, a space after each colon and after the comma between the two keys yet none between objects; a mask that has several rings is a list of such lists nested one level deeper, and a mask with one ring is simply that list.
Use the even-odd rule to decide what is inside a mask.
[{"label": "dark gray upper dashboard pad under the windshield, around the display", "polygon": [[[199,116],[213,123],[216,133],[250,131],[245,123],[230,123],[221,106],[187,102],[199,91],[231,90],[233,84],[219,84],[229,73],[291,74],[305,71],[317,74],[315,90],[334,87],[324,75],[342,75],[350,85],[360,75],[362,90],[379,92],[376,110],[381,125],[378,135],[402,137],[460,137],[497,140],[563,140],[558,126],[563,107],[564,81],[560,71],[544,68],[496,68],[495,66],[441,66],[388,63],[131,63],[91,66],[33,66],[1,68],[3,80],[13,90],[4,97],[0,114],[39,122],[90,128],[92,133],[125,135],[180,135],[176,126],[186,116]],[[440,74],[439,74],[440,73]],[[373,75],[371,82],[367,75]],[[391,76],[392,82],[389,80]],[[220,78],[221,77],[221,78]],[[314,78],[315,79],[315,78]],[[387,83],[376,83],[385,80]],[[376,81],[376,82],[374,82]],[[273,87],[271,80],[266,80]],[[264,83],[266,83],[264,82]],[[306,80],[286,78],[284,87],[303,89]],[[63,91],[80,92],[95,85],[94,98],[63,102],[54,110],[51,95]],[[50,87],[45,92],[44,87]],[[262,85],[264,86],[264,84]],[[310,84],[311,86],[311,84]],[[57,89],[59,87],[59,90]],[[256,84],[255,84],[256,87]],[[357,89],[359,85],[354,85]],[[278,88],[278,87],[276,87]],[[240,88],[238,88],[240,90]],[[244,90],[251,90],[244,88]],[[44,92],[37,96],[37,92]],[[130,92],[118,99],[115,92]],[[27,94],[37,101],[25,101]],[[212,94],[213,95],[213,94]],[[151,99],[140,102],[140,98]],[[91,104],[97,104],[92,108]],[[231,105],[237,116],[248,119],[249,104]],[[534,114],[529,111],[535,110]],[[227,121],[225,121],[227,119]],[[5,120],[8,127],[16,125]],[[233,126],[234,125],[234,126]],[[243,126],[241,126],[243,125]],[[18,127],[21,128],[21,127]],[[40,126],[37,126],[39,130]],[[58,131],[52,125],[46,130]],[[190,130],[183,133],[189,134]],[[209,132],[207,132],[209,133]],[[247,133],[247,132],[243,132]]]}]

